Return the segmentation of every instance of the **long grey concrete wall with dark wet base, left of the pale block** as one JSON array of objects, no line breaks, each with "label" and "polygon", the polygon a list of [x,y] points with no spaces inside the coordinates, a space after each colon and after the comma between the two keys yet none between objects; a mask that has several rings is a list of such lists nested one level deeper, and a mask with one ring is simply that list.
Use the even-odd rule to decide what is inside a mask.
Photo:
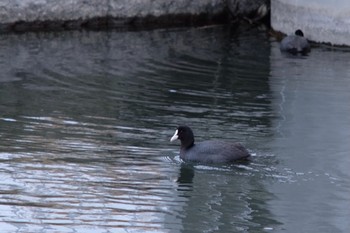
[{"label": "long grey concrete wall with dark wet base, left of the pale block", "polygon": [[[228,21],[269,0],[0,0],[0,31]],[[255,4],[257,2],[257,4]]]}]

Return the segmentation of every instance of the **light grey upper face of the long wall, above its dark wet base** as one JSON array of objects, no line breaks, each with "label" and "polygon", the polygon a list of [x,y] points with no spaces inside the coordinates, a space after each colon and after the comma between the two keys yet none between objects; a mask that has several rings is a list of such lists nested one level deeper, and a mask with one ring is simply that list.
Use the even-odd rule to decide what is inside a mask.
[{"label": "light grey upper face of the long wall, above its dark wet base", "polygon": [[223,0],[0,0],[0,22],[218,13]]}]

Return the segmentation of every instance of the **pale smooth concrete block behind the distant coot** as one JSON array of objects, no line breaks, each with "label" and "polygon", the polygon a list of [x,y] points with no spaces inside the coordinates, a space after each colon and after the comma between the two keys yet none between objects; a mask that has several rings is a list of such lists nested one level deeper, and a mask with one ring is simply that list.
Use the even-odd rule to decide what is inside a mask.
[{"label": "pale smooth concrete block behind the distant coot", "polygon": [[349,0],[273,0],[271,26],[285,34],[300,28],[311,41],[350,45]]}]

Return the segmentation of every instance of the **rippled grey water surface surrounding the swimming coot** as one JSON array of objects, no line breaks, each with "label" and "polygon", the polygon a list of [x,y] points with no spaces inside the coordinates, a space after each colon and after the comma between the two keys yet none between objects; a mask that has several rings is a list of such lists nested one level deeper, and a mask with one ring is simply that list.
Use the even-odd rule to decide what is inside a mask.
[{"label": "rippled grey water surface surrounding the swimming coot", "polygon": [[[349,232],[350,52],[257,28],[0,37],[1,232]],[[186,164],[196,140],[246,164]]]}]

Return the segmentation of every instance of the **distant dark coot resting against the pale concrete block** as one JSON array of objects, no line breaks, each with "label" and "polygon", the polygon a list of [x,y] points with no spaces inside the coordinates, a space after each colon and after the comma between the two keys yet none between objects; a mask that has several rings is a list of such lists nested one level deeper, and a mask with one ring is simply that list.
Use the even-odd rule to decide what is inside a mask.
[{"label": "distant dark coot resting against the pale concrete block", "polygon": [[289,52],[292,54],[307,54],[310,52],[310,44],[304,37],[304,33],[298,29],[295,31],[295,35],[289,35],[283,38],[280,44],[280,50],[282,52]]}]

